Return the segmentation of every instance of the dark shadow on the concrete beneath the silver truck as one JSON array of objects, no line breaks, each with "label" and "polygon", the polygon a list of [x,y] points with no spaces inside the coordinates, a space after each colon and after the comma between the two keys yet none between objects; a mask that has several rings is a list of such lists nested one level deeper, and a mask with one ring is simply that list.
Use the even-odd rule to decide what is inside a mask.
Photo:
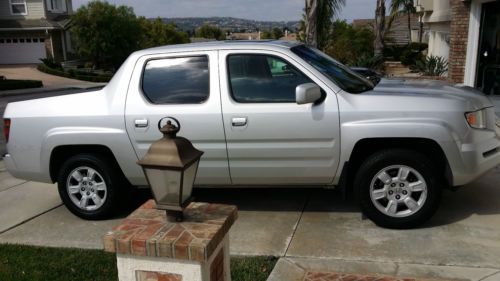
[{"label": "dark shadow on the concrete beneath the silver truck", "polygon": [[[471,216],[500,215],[500,169],[495,169],[477,181],[457,191],[444,190],[437,213],[421,228],[433,228],[464,221]],[[240,211],[266,212],[361,212],[352,194],[322,188],[197,188],[195,201],[238,206]],[[149,190],[136,190],[132,201],[123,210],[124,216],[144,201],[152,198]]]}]

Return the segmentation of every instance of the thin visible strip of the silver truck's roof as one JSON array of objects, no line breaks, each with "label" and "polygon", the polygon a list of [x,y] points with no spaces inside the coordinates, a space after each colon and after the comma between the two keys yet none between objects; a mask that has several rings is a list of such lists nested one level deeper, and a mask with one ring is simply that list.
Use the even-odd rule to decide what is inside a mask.
[{"label": "thin visible strip of the silver truck's roof", "polygon": [[138,51],[139,54],[150,54],[156,52],[172,52],[172,51],[197,51],[197,50],[221,50],[221,49],[260,49],[264,46],[269,48],[290,49],[301,45],[300,42],[284,41],[284,40],[226,40],[226,41],[210,41],[200,43],[188,43],[167,45],[149,48]]}]

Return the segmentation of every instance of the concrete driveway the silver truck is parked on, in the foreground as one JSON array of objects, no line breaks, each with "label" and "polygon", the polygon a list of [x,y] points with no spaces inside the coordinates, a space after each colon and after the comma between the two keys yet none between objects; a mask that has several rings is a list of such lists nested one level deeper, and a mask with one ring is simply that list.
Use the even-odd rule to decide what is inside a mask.
[{"label": "concrete driveway the silver truck is parked on, in the foreground", "polygon": [[[362,220],[356,204],[334,190],[203,189],[195,196],[238,205],[231,254],[280,256],[269,280],[303,280],[316,270],[498,281],[498,182],[500,168],[457,192],[445,191],[436,216],[413,230]],[[134,208],[112,220],[84,221],[60,205],[54,185],[20,181],[2,170],[0,185],[0,243],[100,249],[102,235]],[[134,198],[138,206],[148,193]]]}]

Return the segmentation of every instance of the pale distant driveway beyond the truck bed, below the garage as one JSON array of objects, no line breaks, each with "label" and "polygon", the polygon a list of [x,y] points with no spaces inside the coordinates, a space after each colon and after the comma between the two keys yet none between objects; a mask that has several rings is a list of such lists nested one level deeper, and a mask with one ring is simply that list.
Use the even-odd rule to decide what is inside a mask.
[{"label": "pale distant driveway beyond the truck bed, below the garage", "polygon": [[36,65],[0,65],[0,76],[5,76],[7,79],[40,80],[45,88],[65,88],[75,85],[83,87],[102,84],[50,75],[38,71]]}]

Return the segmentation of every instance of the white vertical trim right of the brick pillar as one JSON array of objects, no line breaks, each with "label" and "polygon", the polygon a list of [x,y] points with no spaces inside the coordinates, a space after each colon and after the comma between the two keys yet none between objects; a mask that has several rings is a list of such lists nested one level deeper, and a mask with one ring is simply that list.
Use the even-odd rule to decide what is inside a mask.
[{"label": "white vertical trim right of the brick pillar", "polygon": [[467,38],[467,56],[465,60],[464,84],[474,87],[476,84],[477,53],[481,32],[481,13],[484,3],[495,0],[475,0],[471,2],[469,14],[469,36]]}]

